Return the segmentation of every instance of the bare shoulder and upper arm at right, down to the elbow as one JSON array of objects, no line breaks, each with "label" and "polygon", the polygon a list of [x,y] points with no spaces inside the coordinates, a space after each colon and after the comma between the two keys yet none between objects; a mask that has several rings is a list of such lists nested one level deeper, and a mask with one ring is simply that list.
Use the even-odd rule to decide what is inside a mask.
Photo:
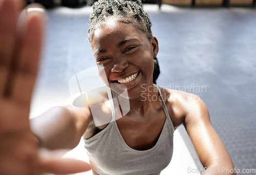
[{"label": "bare shoulder and upper arm at right, down to the elbow", "polygon": [[210,123],[203,100],[183,91],[161,89],[174,126],[183,124],[203,167],[233,169],[228,152]]}]

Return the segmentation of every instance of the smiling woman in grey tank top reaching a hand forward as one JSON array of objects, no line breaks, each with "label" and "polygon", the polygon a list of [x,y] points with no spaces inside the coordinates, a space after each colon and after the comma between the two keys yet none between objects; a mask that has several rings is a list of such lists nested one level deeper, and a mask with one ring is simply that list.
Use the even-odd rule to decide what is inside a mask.
[{"label": "smiling woman in grey tank top reaching a hand forward", "polygon": [[[1,151],[9,150],[8,154],[1,152],[1,174],[86,171],[90,165],[41,157],[37,152],[38,146],[74,148],[81,137],[94,174],[159,174],[172,158],[173,132],[180,124],[184,124],[204,167],[234,168],[203,101],[153,83],[158,76],[153,73],[158,41],[140,1],[98,1],[90,16],[89,41],[99,76],[111,91],[100,89],[88,95],[81,101],[84,107],[75,107],[70,100],[29,123],[44,13],[38,9],[24,12],[22,19],[27,23],[18,26],[15,35],[18,9],[14,0],[1,2],[0,136]],[[128,96],[122,95],[124,91]],[[121,108],[121,117],[115,115],[119,107],[113,100],[115,93],[129,99],[130,110],[124,114]],[[92,106],[97,104],[97,111],[110,116],[105,118],[109,122],[96,124]],[[204,172],[210,173],[232,174]]]}]

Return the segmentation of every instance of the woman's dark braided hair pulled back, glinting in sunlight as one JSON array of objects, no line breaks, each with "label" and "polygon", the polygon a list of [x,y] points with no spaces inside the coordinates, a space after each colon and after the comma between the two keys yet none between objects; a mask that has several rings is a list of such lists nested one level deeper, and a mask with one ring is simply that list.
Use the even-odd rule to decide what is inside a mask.
[{"label": "woman's dark braided hair pulled back, glinting in sunlight", "polygon": [[[114,17],[122,23],[133,23],[136,28],[143,31],[148,40],[152,39],[151,20],[143,10],[141,0],[99,0],[92,6],[93,13],[90,15],[90,27],[88,30],[89,43],[92,46],[94,31],[98,25]],[[157,58],[154,58],[153,82],[160,74]]]}]

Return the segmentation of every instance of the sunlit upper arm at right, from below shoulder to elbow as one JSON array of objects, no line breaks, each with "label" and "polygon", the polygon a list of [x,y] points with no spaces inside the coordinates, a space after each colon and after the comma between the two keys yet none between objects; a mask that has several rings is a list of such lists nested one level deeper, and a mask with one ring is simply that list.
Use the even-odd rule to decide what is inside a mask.
[{"label": "sunlit upper arm at right, from below shoulder to elbow", "polygon": [[204,167],[233,168],[230,156],[210,123],[205,103],[196,95],[186,101],[186,115],[183,122]]}]

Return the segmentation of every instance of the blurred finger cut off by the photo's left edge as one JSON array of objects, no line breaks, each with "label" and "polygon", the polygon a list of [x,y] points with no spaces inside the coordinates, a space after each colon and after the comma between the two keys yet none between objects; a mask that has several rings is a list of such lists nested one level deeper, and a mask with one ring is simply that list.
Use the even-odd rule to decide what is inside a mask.
[{"label": "blurred finger cut off by the photo's left edge", "polygon": [[20,6],[20,1],[2,0],[0,2],[0,80],[2,81],[0,95],[6,87]]}]

